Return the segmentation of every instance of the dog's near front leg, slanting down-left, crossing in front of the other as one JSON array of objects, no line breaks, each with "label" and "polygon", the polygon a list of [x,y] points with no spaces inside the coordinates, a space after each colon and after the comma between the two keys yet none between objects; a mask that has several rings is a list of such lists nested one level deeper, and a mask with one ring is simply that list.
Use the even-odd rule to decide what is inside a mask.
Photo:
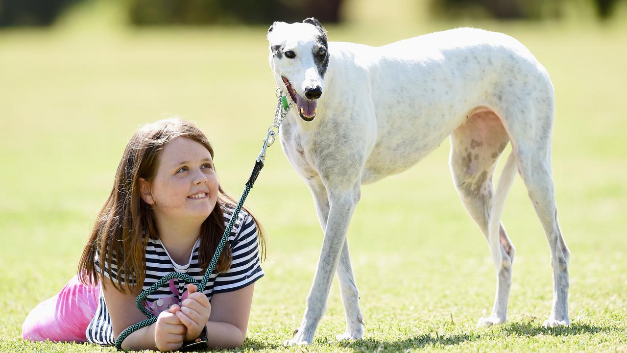
[{"label": "dog's near front leg, slanting down-left, crossing in front of the other", "polygon": [[[359,184],[351,190],[332,192],[329,190],[329,219],[325,229],[322,251],[318,259],[318,266],[314,276],[314,283],[307,296],[303,321],[294,332],[292,339],[286,345],[311,344],[314,341],[315,330],[327,309],[327,298],[333,274],[344,247],[346,232],[349,227],[355,206],[359,200]],[[347,249],[348,250],[348,249]]]}]

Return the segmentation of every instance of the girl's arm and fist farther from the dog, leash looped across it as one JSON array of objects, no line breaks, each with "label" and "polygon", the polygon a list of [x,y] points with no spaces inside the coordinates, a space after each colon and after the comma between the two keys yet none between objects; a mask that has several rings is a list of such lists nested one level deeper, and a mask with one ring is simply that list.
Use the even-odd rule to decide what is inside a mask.
[{"label": "girl's arm and fist farther from the dog, leash looped across it", "polygon": [[[102,281],[103,294],[113,325],[113,337],[117,339],[127,327],[146,317],[135,307],[134,295],[120,293],[113,288],[108,278],[102,278]],[[130,334],[122,343],[122,349],[176,350],[183,343],[185,330],[176,315],[166,310],[159,315],[156,323]]]}]

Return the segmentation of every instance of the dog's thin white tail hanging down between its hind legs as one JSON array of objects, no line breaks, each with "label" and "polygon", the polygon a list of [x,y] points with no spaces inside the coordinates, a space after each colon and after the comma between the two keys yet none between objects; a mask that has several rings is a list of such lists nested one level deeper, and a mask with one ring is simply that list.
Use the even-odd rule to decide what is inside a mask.
[{"label": "dog's thin white tail hanging down between its hind legs", "polygon": [[498,180],[497,192],[492,198],[490,219],[488,221],[488,243],[490,244],[490,252],[492,253],[492,260],[494,261],[497,273],[502,267],[503,262],[500,244],[501,215],[503,214],[503,208],[505,207],[505,198],[507,197],[507,193],[510,188],[512,188],[517,170],[516,156],[514,155],[514,150],[512,150],[510,155],[507,157],[505,166],[503,166],[503,171],[501,171],[501,177]]}]

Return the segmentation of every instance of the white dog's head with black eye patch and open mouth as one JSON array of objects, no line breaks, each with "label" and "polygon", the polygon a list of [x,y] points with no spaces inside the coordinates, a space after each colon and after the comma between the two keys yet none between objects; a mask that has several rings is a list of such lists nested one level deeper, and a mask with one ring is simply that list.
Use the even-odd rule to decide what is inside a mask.
[{"label": "white dog's head with black eye patch and open mouth", "polygon": [[302,23],[275,22],[268,30],[268,42],[278,87],[288,92],[303,120],[314,120],[329,65],[327,32],[315,18]]}]

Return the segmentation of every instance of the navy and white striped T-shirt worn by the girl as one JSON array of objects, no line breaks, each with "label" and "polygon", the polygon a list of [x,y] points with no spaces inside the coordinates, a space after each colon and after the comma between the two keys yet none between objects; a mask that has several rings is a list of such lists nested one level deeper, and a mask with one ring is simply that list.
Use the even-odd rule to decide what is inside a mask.
[{"label": "navy and white striped T-shirt worn by the girl", "polygon": [[[232,214],[233,209],[224,210],[225,225],[228,225]],[[244,288],[263,276],[264,273],[260,266],[259,243],[257,238],[255,220],[253,220],[245,210],[241,210],[238,215],[238,220],[233,226],[233,231],[231,231],[231,236],[229,236],[229,245],[231,246],[233,258],[231,268],[224,273],[218,274],[218,276],[216,276],[215,273],[211,274],[203,291],[209,301],[211,301],[211,297],[214,293],[226,293]],[[162,276],[174,271],[187,273],[199,282],[203,280],[202,269],[198,264],[199,245],[200,239],[194,244],[189,263],[181,265],[172,260],[171,256],[167,253],[166,247],[163,246],[159,239],[149,239],[146,246],[146,275],[142,290],[149,288],[159,281]],[[107,263],[105,263],[105,271],[102,272],[99,260],[98,256],[94,259],[97,271],[103,273],[110,280],[119,283],[116,278],[117,268],[115,267],[115,263],[112,263],[112,277],[110,277],[107,271]],[[171,305],[180,305],[181,301],[187,298],[187,291],[184,291],[185,285],[186,283],[184,281],[173,278],[169,283],[166,283],[162,288],[155,291],[155,293],[147,296],[144,300],[145,307],[155,316],[159,316],[159,313],[167,310]],[[98,308],[85,333],[87,335],[87,341],[90,343],[114,345],[115,337],[113,337],[113,325],[107,310],[107,303],[105,303],[102,284],[100,286]]]}]

